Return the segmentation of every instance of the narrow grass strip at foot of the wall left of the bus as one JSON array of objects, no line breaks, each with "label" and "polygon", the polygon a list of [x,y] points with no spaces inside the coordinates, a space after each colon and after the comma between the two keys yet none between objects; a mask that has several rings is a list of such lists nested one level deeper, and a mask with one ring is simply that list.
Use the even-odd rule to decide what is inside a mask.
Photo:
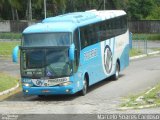
[{"label": "narrow grass strip at foot of the wall left of the bus", "polygon": [[22,34],[21,33],[0,33],[0,39],[21,39]]}]

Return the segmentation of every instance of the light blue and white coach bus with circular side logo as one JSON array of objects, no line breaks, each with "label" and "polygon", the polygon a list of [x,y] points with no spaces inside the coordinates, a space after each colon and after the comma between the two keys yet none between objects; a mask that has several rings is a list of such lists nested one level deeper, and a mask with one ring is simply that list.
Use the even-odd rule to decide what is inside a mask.
[{"label": "light blue and white coach bus with circular side logo", "polygon": [[20,71],[26,95],[85,95],[99,81],[117,80],[129,65],[129,30],[123,10],[49,17],[22,34]]}]

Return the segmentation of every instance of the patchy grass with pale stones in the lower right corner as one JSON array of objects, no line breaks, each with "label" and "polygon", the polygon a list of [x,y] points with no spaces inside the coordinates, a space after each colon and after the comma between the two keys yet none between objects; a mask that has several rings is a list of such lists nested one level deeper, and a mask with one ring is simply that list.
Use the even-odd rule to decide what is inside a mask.
[{"label": "patchy grass with pale stones in the lower right corner", "polygon": [[[141,101],[137,100],[139,97],[141,97]],[[138,108],[149,105],[160,106],[160,83],[151,90],[128,97],[125,102],[121,104],[121,107]]]}]

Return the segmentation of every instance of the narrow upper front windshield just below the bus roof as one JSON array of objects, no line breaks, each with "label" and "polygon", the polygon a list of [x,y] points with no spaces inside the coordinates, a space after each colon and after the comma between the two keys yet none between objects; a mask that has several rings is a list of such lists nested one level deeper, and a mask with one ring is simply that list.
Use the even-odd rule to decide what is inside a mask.
[{"label": "narrow upper front windshield just below the bus roof", "polygon": [[41,46],[69,46],[71,44],[71,33],[32,33],[23,34],[22,46],[41,47]]}]

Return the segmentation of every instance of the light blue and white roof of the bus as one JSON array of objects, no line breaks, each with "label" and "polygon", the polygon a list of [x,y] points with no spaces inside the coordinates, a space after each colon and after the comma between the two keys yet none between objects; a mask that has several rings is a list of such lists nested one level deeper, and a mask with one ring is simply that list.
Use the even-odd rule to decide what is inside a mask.
[{"label": "light blue and white roof of the bus", "polygon": [[73,12],[44,19],[41,23],[27,27],[23,33],[72,32],[77,27],[125,15],[123,10],[89,10]]}]

